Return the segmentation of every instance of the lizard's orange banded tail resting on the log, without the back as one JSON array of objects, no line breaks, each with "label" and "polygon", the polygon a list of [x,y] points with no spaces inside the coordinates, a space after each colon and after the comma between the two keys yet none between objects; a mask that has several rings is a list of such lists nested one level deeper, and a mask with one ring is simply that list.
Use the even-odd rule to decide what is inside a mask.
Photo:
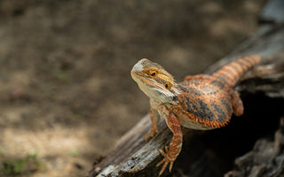
[{"label": "lizard's orange banded tail resting on the log, without the back", "polygon": [[259,56],[248,56],[238,59],[228,65],[225,65],[216,73],[213,73],[213,77],[220,81],[225,81],[229,85],[233,86],[241,76],[251,69],[254,65],[260,62]]}]

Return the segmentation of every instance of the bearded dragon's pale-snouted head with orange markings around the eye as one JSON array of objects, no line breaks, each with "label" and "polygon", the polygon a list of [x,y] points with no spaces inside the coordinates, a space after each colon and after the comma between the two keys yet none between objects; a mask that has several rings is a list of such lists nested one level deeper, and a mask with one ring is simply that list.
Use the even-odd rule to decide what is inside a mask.
[{"label": "bearded dragon's pale-snouted head with orange markings around the eye", "polygon": [[143,58],[133,66],[131,77],[150,99],[161,103],[177,103],[177,83],[162,65]]}]

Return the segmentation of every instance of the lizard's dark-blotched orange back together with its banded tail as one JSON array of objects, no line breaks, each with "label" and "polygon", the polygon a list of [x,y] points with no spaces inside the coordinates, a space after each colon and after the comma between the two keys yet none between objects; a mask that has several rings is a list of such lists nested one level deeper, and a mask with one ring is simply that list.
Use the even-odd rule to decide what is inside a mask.
[{"label": "lizard's dark-blotched orange back together with its banded tail", "polygon": [[241,58],[212,75],[179,83],[182,94],[177,99],[183,112],[176,114],[181,124],[196,129],[224,127],[233,114],[233,85],[259,61],[257,56]]}]

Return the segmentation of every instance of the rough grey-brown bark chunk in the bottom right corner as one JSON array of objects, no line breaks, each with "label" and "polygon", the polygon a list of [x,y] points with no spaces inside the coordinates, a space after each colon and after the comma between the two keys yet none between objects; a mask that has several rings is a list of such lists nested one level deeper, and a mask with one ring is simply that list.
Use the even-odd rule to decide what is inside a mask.
[{"label": "rough grey-brown bark chunk in the bottom right corner", "polygon": [[283,176],[284,173],[284,118],[280,119],[280,128],[274,134],[274,140],[261,138],[253,150],[236,158],[235,170],[225,177],[239,176]]}]

